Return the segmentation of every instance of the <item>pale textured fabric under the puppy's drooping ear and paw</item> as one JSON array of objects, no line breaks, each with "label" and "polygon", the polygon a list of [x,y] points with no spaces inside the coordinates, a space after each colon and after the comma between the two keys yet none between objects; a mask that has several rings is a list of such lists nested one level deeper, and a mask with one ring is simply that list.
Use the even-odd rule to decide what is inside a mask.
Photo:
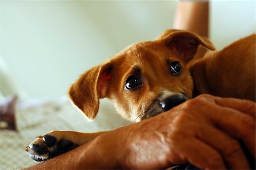
[{"label": "pale textured fabric under the puppy's drooping ear and paw", "polygon": [[95,132],[127,125],[108,101],[102,100],[95,121],[89,122],[67,99],[28,101],[16,111],[18,131],[0,130],[0,169],[19,169],[38,162],[24,148],[38,135],[52,130]]}]

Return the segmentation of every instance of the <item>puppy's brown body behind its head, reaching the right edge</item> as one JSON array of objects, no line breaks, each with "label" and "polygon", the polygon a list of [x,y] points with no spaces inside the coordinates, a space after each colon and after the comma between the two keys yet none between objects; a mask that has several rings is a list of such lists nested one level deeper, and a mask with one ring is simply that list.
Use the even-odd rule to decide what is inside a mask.
[{"label": "puppy's brown body behind its head, reaching the right edge", "polygon": [[190,63],[197,94],[255,101],[255,40],[247,36]]}]

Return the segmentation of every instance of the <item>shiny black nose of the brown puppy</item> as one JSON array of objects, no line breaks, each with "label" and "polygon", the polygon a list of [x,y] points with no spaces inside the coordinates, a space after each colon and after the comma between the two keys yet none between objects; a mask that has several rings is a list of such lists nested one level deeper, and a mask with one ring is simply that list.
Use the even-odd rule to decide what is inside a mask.
[{"label": "shiny black nose of the brown puppy", "polygon": [[160,102],[161,107],[164,111],[170,110],[172,107],[183,103],[186,99],[181,94],[175,94],[168,98],[165,98],[162,102]]}]

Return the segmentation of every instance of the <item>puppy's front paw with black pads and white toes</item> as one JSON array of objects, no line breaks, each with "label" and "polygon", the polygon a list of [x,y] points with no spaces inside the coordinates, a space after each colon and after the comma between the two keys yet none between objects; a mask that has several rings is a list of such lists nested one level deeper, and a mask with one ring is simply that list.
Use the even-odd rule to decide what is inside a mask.
[{"label": "puppy's front paw with black pads and white toes", "polygon": [[71,140],[65,139],[62,131],[52,131],[36,139],[26,147],[28,155],[36,161],[51,159],[77,147]]}]

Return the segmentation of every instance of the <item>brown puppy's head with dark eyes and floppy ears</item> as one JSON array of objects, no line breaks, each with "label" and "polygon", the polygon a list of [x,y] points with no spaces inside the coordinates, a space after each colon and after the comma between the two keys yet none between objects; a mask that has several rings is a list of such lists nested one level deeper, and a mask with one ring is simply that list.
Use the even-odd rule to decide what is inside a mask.
[{"label": "brown puppy's head with dark eyes and floppy ears", "polygon": [[88,117],[96,117],[100,98],[109,98],[130,121],[152,117],[192,97],[187,63],[208,39],[168,30],[152,42],[133,44],[114,58],[89,69],[69,89],[71,101]]}]

